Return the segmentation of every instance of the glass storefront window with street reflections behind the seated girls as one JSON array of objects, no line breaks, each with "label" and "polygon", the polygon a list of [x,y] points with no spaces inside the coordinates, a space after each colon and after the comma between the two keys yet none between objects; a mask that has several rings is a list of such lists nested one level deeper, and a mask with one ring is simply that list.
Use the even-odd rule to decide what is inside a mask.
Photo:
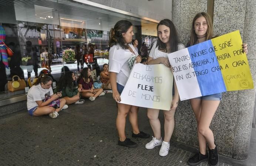
[{"label": "glass storefront window with street reflections behind the seated girls", "polygon": [[[24,94],[25,90],[10,92],[7,81],[14,75],[27,86],[40,73],[50,72],[58,81],[61,70],[78,71],[78,62],[92,69],[108,63],[110,29],[119,20],[134,25],[134,38],[146,42],[150,48],[156,38],[156,24],[152,21],[127,16],[78,3],[72,0],[0,0],[0,39],[13,50],[4,56],[5,46],[0,41],[0,96],[1,99]],[[154,34],[144,34],[151,31]],[[82,52],[75,59],[75,49]],[[17,79],[17,78],[14,78]]]}]

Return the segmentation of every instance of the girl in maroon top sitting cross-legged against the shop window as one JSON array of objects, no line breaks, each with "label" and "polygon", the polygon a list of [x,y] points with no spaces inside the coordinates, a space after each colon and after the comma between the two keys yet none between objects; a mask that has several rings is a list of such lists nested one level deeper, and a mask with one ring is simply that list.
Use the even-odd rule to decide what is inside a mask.
[{"label": "girl in maroon top sitting cross-legged against the shop window", "polygon": [[94,101],[98,96],[105,95],[102,88],[94,89],[91,69],[88,67],[81,71],[78,78],[78,87],[81,89],[82,97],[89,98],[90,101]]}]

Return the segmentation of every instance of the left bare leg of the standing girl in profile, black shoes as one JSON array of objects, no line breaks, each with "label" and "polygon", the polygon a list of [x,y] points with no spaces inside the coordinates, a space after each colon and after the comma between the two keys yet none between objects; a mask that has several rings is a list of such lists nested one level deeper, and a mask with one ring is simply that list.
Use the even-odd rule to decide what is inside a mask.
[{"label": "left bare leg of the standing girl in profile, black shoes", "polygon": [[125,122],[126,122],[127,114],[131,109],[131,105],[121,104],[121,103],[118,103],[117,105],[118,105],[118,113],[117,113],[117,121],[116,121],[117,131],[119,135],[119,140],[124,141],[126,139]]}]

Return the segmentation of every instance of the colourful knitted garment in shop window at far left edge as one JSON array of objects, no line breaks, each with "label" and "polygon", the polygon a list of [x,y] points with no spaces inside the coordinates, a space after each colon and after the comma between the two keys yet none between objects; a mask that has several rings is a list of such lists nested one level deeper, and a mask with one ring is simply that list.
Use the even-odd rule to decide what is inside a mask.
[{"label": "colourful knitted garment in shop window at far left edge", "polygon": [[[0,26],[0,39],[5,41],[5,31],[4,31],[4,28],[2,26]],[[0,41],[0,45],[3,45],[3,42]],[[9,68],[8,66],[8,55],[7,55],[7,51],[6,51],[6,47],[3,45],[3,46],[0,46],[0,61],[3,62],[4,66],[6,68]]]}]

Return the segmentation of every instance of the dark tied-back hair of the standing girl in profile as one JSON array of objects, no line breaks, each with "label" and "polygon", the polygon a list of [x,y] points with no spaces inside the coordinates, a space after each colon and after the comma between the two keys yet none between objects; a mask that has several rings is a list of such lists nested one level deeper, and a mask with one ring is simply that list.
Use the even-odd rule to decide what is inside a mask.
[{"label": "dark tied-back hair of the standing girl in profile", "polygon": [[127,46],[122,34],[126,33],[131,26],[132,23],[130,21],[118,21],[114,28],[111,28],[110,30],[110,41],[108,45],[112,47],[113,45],[119,44],[122,48],[128,49],[129,47]]}]

